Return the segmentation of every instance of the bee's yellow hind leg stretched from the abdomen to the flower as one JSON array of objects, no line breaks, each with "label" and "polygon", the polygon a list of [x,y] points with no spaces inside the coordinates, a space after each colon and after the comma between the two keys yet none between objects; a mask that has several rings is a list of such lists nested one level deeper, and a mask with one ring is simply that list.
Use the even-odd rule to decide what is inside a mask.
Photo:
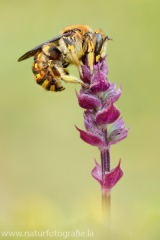
[{"label": "bee's yellow hind leg stretched from the abdomen to the flower", "polygon": [[79,80],[74,76],[70,76],[67,69],[58,65],[58,61],[56,63],[53,60],[49,60],[48,65],[50,67],[54,79],[56,79],[57,81],[62,80],[64,82],[80,83],[84,87],[88,88],[88,86],[82,80]]}]

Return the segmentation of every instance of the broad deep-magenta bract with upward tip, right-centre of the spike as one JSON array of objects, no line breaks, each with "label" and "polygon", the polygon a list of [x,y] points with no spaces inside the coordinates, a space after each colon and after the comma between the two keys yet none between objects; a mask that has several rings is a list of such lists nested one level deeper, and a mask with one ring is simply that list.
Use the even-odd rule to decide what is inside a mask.
[{"label": "broad deep-magenta bract with upward tip, right-centre of the spike", "polygon": [[113,101],[111,100],[111,104],[106,109],[102,111],[98,111],[96,116],[96,122],[98,125],[106,125],[115,122],[120,116],[120,111],[113,105]]}]

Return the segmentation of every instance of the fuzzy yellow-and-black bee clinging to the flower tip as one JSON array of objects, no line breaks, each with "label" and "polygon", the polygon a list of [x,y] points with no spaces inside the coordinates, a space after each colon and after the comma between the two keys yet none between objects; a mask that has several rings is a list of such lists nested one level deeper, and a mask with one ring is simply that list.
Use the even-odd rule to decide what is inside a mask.
[{"label": "fuzzy yellow-and-black bee clinging to the flower tip", "polygon": [[18,62],[34,56],[32,71],[36,82],[48,91],[62,91],[62,81],[80,83],[88,87],[82,80],[69,75],[67,67],[74,64],[83,77],[81,61],[87,57],[88,65],[93,71],[93,63],[97,63],[106,53],[107,41],[102,30],[95,32],[87,25],[73,25],[64,28],[61,35],[50,39],[26,52]]}]

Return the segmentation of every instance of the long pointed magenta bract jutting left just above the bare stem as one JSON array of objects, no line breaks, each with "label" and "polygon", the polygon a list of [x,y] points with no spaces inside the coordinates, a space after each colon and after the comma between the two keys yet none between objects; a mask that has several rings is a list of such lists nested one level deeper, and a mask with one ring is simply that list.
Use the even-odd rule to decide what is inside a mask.
[{"label": "long pointed magenta bract jutting left just above the bare stem", "polygon": [[80,132],[80,138],[84,142],[86,142],[92,146],[97,146],[99,148],[99,150],[104,149],[105,141],[103,141],[99,136],[96,136],[95,134],[92,134],[92,133],[85,132],[85,131],[79,129],[78,127],[76,127],[76,128]]}]

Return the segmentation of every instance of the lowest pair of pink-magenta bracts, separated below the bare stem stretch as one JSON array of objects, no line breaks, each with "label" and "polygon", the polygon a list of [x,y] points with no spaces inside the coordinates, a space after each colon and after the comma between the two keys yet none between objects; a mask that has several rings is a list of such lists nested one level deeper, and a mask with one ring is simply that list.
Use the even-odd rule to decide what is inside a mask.
[{"label": "lowest pair of pink-magenta bracts, separated below the bare stem stretch", "polygon": [[110,172],[105,172],[104,182],[102,181],[102,168],[95,160],[96,166],[93,168],[92,176],[101,184],[101,188],[104,190],[111,190],[119,179],[123,176],[123,171],[120,168],[121,159],[118,166],[112,169]]}]

